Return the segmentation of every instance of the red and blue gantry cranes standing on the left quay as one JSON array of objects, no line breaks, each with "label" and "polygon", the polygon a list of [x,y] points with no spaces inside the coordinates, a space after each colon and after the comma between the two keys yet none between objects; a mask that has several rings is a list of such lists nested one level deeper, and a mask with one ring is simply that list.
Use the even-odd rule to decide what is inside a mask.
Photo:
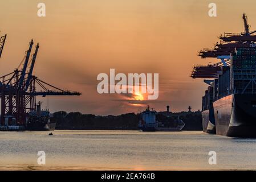
[{"label": "red and blue gantry cranes standing on the left quay", "polygon": [[[5,46],[6,36],[4,35],[0,39],[0,57]],[[34,42],[31,40],[29,49],[17,69],[0,77],[0,130],[4,126],[26,129],[29,114],[36,110],[36,96],[80,96],[81,94],[57,88],[33,74],[39,44],[36,44],[34,53],[31,55],[33,45]],[[20,69],[21,65],[23,67]]]}]

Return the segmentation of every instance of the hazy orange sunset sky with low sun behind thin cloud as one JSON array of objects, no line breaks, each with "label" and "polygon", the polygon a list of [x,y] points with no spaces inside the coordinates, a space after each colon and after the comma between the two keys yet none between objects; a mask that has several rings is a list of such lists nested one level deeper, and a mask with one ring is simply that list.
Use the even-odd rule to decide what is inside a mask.
[{"label": "hazy orange sunset sky with low sun behind thin cloud", "polygon": [[[37,5],[46,4],[46,17]],[[208,5],[217,4],[217,17]],[[235,3],[234,3],[235,2]],[[242,32],[242,14],[256,29],[256,1],[204,0],[9,0],[0,1],[1,35],[7,34],[0,75],[17,68],[31,39],[40,49],[34,74],[59,88],[82,96],[38,97],[50,111],[84,114],[139,112],[145,105],[157,111],[201,110],[207,85],[190,78],[193,65],[216,63],[197,52],[211,48],[224,32]],[[97,75],[159,73],[159,98],[97,93]]]}]

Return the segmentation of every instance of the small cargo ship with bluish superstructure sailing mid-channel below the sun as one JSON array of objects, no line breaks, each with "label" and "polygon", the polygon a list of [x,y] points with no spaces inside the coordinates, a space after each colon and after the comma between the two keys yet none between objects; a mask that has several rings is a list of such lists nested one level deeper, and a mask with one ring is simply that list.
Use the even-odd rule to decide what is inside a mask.
[{"label": "small cargo ship with bluish superstructure sailing mid-channel below the sun", "polygon": [[141,113],[141,120],[139,121],[139,129],[142,131],[181,131],[185,126],[185,123],[177,118],[174,122],[176,126],[174,127],[165,127],[163,125],[160,126],[159,122],[156,121],[155,110],[150,110],[149,106],[145,111]]}]

